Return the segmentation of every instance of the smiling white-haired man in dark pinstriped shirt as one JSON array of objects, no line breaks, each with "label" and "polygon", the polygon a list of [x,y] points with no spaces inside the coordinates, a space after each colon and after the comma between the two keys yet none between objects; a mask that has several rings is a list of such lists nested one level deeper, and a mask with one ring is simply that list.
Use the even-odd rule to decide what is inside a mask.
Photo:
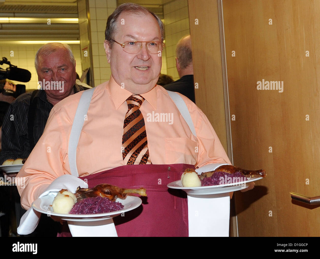
[{"label": "smiling white-haired man in dark pinstriped shirt", "polygon": [[76,61],[66,44],[42,46],[35,66],[40,90],[20,95],[5,114],[0,165],[7,159],[27,158],[43,133],[52,107],[67,96],[88,89],[76,84]]}]

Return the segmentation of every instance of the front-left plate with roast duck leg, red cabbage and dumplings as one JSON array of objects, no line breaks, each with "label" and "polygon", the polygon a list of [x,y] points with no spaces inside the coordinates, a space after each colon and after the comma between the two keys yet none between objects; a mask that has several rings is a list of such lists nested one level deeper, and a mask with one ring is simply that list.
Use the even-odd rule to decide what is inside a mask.
[{"label": "front-left plate with roast duck leg, red cabbage and dumplings", "polygon": [[[115,188],[116,193],[112,193]],[[139,197],[127,195],[132,193],[146,196],[146,189],[121,189],[109,184],[98,184],[92,189],[78,187],[76,193],[62,189],[38,198],[32,203],[32,208],[67,221],[106,220],[141,205]]]}]

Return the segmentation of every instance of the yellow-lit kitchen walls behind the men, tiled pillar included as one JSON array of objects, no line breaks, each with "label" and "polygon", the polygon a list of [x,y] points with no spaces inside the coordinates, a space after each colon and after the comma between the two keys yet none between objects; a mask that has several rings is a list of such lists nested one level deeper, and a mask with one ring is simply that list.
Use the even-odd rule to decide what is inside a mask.
[{"label": "yellow-lit kitchen walls behind the men, tiled pillar included", "polygon": [[[103,41],[104,31],[108,16],[116,8],[116,0],[89,0],[89,7],[85,0],[78,1],[80,44],[70,44],[76,59],[76,72],[81,76],[82,71],[91,66],[92,56],[94,86],[109,80],[111,75],[110,65],[107,62]],[[164,4],[164,38],[165,51],[162,55],[162,74],[168,74],[174,80],[179,79],[175,66],[176,43],[181,37],[190,33],[188,19],[188,1],[176,0]],[[89,12],[87,12],[89,10]],[[90,49],[91,41],[91,49]],[[36,89],[38,77],[34,67],[36,51],[42,44],[30,45],[1,45],[0,57],[6,57],[13,65],[28,69],[31,72],[31,80],[26,89]],[[88,47],[88,48],[86,48]],[[84,56],[84,50],[88,51],[88,57]],[[13,51],[13,56],[10,56]],[[91,52],[90,52],[91,51]],[[6,68],[6,65],[1,66]],[[19,83],[19,82],[16,82]]]}]

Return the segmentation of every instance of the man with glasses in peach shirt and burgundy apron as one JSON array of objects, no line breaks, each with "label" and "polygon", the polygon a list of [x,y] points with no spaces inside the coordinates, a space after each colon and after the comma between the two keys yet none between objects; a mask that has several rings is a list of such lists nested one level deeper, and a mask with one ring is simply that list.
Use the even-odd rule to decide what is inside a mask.
[{"label": "man with glasses in peach shirt and burgundy apron", "polygon": [[[18,175],[27,181],[19,189],[21,204],[30,208],[52,181],[65,175],[79,175],[90,188],[101,183],[145,187],[142,206],[114,218],[118,236],[188,236],[186,194],[168,191],[166,185],[187,168],[230,163],[228,156],[193,102],[177,94],[193,122],[190,127],[169,93],[156,85],[164,33],[154,13],[137,4],[118,6],[108,17],[105,39],[110,80],[85,91],[84,96],[93,93],[83,113],[77,111],[88,103],[82,94],[53,107]],[[80,130],[73,126],[77,118]]]}]

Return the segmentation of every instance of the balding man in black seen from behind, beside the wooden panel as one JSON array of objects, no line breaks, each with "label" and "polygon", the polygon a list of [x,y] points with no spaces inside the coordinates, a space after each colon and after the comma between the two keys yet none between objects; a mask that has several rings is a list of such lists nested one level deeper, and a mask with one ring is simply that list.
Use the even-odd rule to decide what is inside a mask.
[{"label": "balding man in black seen from behind, beside the wooden panel", "polygon": [[176,48],[176,56],[176,67],[180,79],[165,85],[164,88],[169,91],[181,93],[196,103],[190,35],[179,40]]}]

